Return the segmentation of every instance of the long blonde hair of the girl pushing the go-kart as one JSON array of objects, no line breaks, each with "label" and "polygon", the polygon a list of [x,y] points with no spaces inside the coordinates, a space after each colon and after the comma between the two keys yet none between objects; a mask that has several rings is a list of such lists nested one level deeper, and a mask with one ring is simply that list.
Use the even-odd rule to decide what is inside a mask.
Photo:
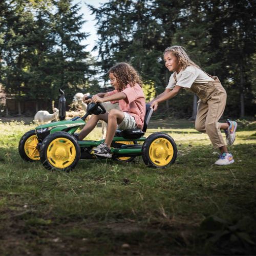
[{"label": "long blonde hair of the girl pushing the go-kart", "polygon": [[201,69],[198,65],[196,65],[196,63],[194,61],[192,61],[187,53],[186,53],[186,49],[182,46],[171,46],[171,47],[167,47],[164,52],[163,55],[166,52],[172,52],[174,54],[174,56],[176,56],[179,60],[179,62],[181,62],[182,65],[182,69],[184,70],[187,66],[195,66],[199,69]]}]

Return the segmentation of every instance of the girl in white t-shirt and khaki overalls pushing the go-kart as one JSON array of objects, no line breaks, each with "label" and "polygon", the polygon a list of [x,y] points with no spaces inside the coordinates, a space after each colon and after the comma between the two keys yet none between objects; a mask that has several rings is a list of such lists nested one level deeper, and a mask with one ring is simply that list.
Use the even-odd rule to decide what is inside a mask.
[{"label": "girl in white t-shirt and khaki overalls pushing the go-kart", "polygon": [[[152,100],[151,108],[157,110],[158,104],[176,96],[182,88],[188,89],[199,97],[196,130],[206,132],[211,143],[221,151],[217,165],[227,165],[234,162],[227,146],[233,144],[236,138],[237,122],[227,120],[218,122],[222,116],[227,94],[217,76],[211,76],[202,71],[187,55],[181,46],[165,49],[163,54],[165,67],[174,72],[169,79],[165,91]],[[225,131],[226,143],[221,130]]]}]

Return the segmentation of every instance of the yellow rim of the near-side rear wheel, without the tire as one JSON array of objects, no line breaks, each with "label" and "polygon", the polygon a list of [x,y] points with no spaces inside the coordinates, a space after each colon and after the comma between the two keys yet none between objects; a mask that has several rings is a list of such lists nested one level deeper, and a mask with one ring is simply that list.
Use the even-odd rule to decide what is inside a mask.
[{"label": "yellow rim of the near-side rear wheel, without the tire", "polygon": [[173,159],[173,145],[165,138],[155,139],[150,145],[149,155],[155,165],[165,166]]}]

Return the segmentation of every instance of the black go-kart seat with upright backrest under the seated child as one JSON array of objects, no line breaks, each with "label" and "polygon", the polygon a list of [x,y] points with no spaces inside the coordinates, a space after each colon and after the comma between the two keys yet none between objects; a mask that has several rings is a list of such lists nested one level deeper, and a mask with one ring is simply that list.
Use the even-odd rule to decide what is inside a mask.
[{"label": "black go-kart seat with upright backrest under the seated child", "polygon": [[146,114],[144,118],[144,125],[142,130],[141,129],[128,129],[128,130],[116,130],[116,135],[117,137],[123,137],[125,139],[138,139],[142,137],[147,129],[147,125],[150,122],[150,118],[152,116],[153,109],[150,108],[150,104],[146,104]]}]

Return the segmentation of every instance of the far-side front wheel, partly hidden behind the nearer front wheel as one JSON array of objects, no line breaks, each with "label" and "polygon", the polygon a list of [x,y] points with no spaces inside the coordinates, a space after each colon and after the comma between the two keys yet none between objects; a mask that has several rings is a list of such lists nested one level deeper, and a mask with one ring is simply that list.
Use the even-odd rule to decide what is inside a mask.
[{"label": "far-side front wheel, partly hidden behind the nearer front wheel", "polygon": [[37,150],[38,140],[35,130],[25,133],[18,143],[18,153],[23,160],[28,162],[39,161],[39,151]]}]

